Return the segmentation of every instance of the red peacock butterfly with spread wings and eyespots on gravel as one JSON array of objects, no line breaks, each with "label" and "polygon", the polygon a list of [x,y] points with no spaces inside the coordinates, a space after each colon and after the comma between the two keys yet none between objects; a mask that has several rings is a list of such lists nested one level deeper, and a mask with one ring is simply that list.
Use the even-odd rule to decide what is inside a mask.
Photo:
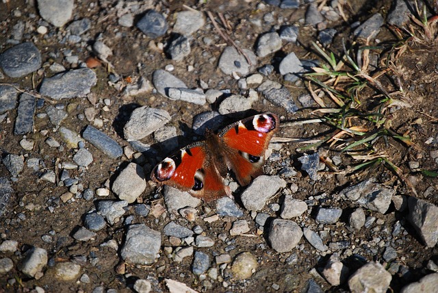
[{"label": "red peacock butterfly with spread wings and eyespots on gravel", "polygon": [[269,112],[237,121],[215,134],[207,129],[205,140],[194,142],[159,162],[151,179],[192,196],[212,201],[231,196],[224,177],[231,170],[240,186],[263,174],[265,151],[276,131],[279,117]]}]

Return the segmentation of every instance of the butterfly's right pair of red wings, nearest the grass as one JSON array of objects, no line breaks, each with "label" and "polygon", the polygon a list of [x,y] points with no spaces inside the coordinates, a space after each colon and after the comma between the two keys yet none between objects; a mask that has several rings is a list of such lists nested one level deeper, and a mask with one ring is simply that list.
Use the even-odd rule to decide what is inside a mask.
[{"label": "butterfly's right pair of red wings, nearest the grass", "polygon": [[219,133],[227,164],[240,185],[246,186],[263,174],[264,153],[279,129],[279,122],[275,114],[264,113],[233,123]]}]

